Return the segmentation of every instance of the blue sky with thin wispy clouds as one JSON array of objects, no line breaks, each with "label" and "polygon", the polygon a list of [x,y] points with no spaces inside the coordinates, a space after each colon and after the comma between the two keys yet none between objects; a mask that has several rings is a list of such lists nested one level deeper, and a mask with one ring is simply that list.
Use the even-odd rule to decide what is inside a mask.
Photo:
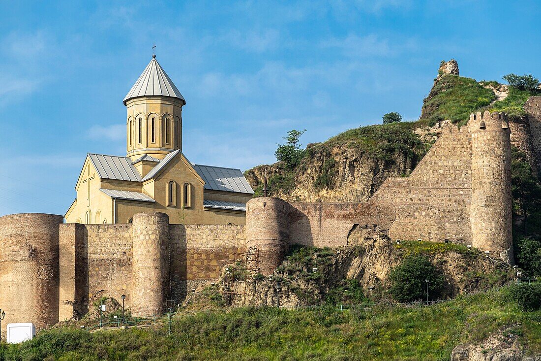
[{"label": "blue sky with thin wispy clouds", "polygon": [[418,119],[439,62],[541,77],[541,3],[0,0],[0,216],[63,215],[90,153],[126,155],[122,100],[156,56],[193,163],[249,169],[301,143]]}]

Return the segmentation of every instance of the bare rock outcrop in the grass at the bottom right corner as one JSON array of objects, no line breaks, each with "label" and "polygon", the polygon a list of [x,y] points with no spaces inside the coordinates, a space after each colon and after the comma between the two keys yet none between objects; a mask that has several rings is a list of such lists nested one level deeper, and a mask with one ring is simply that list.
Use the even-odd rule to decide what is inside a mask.
[{"label": "bare rock outcrop in the grass at the bottom right corner", "polygon": [[458,345],[451,352],[451,361],[541,361],[541,355],[524,356],[518,336],[504,331],[479,345]]}]

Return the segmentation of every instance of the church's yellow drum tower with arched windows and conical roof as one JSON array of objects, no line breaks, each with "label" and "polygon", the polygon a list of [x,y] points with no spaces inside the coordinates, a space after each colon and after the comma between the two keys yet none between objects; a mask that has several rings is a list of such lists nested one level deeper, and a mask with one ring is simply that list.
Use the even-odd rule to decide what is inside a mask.
[{"label": "church's yellow drum tower with arched windows and conical roof", "polygon": [[186,100],[156,60],[143,73],[124,98],[127,107],[127,157],[136,160],[144,154],[163,159],[182,150],[182,107]]}]

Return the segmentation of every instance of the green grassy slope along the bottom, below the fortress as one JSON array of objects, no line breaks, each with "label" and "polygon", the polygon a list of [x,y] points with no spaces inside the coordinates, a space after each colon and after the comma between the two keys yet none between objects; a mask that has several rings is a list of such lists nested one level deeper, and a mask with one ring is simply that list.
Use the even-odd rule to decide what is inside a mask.
[{"label": "green grassy slope along the bottom, below the fortress", "polygon": [[541,352],[539,320],[541,312],[520,311],[506,289],[425,308],[218,309],[175,317],[172,336],[166,326],[45,331],[3,344],[0,360],[448,360],[455,345],[504,326]]}]

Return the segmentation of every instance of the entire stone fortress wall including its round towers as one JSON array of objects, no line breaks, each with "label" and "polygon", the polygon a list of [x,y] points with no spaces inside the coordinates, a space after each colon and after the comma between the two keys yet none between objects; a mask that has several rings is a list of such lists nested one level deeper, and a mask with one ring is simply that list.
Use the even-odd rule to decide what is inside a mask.
[{"label": "entire stone fortress wall including its round towers", "polygon": [[0,217],[0,308],[6,321],[39,328],[81,317],[102,296],[125,294],[137,315],[162,313],[243,255],[256,251],[266,275],[291,244],[348,246],[359,228],[472,244],[512,262],[510,144],[503,114],[474,114],[467,126],[447,126],[410,176],[387,179],[368,202],[253,198],[246,225],[169,224],[157,212],[133,224]]}]

